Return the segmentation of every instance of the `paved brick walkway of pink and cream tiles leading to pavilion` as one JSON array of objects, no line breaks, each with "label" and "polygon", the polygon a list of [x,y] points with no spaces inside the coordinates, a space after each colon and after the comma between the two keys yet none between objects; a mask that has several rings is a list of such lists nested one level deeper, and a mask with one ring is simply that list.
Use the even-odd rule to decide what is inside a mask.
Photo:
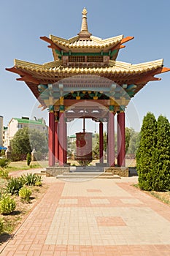
[{"label": "paved brick walkway of pink and cream tiles leading to pavilion", "polygon": [[132,187],[136,177],[44,182],[1,256],[170,255],[170,208]]}]

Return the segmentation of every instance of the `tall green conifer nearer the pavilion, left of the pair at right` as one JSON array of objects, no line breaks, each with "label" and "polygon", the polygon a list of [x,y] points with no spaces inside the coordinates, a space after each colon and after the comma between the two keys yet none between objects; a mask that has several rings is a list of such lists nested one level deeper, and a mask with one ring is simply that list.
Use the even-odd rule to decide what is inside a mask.
[{"label": "tall green conifer nearer the pavilion, left of the pair at right", "polygon": [[144,116],[141,140],[136,153],[136,168],[139,175],[139,187],[152,190],[152,154],[157,145],[157,121],[152,113]]}]

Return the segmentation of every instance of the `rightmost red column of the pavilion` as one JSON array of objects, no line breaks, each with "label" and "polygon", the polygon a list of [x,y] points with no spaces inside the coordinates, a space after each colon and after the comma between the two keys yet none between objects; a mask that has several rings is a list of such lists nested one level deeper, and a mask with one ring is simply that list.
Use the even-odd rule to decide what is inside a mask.
[{"label": "rightmost red column of the pavilion", "polygon": [[125,166],[125,112],[117,113],[117,165]]}]

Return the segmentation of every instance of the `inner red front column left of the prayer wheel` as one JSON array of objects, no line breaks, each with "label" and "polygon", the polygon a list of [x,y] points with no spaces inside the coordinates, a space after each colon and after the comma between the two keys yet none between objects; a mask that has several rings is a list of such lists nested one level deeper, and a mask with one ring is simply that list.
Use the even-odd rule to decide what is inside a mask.
[{"label": "inner red front column left of the prayer wheel", "polygon": [[63,166],[64,163],[64,105],[61,99],[60,112],[59,112],[59,147],[58,147],[58,160],[59,165]]}]

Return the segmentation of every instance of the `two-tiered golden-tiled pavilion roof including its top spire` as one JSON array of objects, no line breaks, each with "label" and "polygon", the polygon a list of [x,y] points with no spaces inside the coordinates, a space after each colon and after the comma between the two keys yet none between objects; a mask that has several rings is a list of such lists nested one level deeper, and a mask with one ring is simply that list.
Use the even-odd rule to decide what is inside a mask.
[{"label": "two-tiered golden-tiled pavilion roof including its top spire", "polygon": [[[111,37],[101,39],[93,37],[88,31],[87,10],[82,11],[82,27],[80,33],[71,39],[63,39],[50,35],[40,37],[48,42],[53,51],[54,61],[45,64],[34,64],[15,59],[14,67],[7,69],[20,75],[17,80],[23,80],[39,98],[41,91],[39,85],[58,83],[64,78],[76,75],[96,75],[112,80],[123,88],[134,84],[131,97],[142,89],[149,81],[161,80],[155,75],[167,72],[170,69],[163,67],[163,59],[145,62],[142,64],[129,64],[117,61],[117,55],[123,43],[134,37]],[[81,86],[81,85],[80,85]],[[80,87],[81,90],[81,87]],[[43,99],[39,101],[44,105]]]}]

